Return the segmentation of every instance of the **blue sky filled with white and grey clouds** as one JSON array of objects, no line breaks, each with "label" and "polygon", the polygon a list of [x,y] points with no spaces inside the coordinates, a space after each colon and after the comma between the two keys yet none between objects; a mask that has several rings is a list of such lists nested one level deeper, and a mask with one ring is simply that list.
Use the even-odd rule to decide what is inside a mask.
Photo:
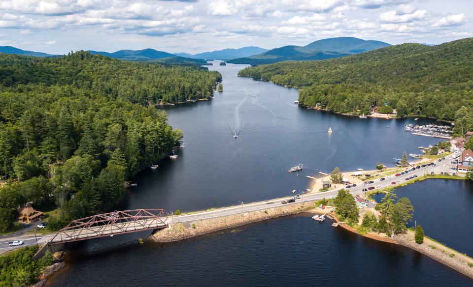
[{"label": "blue sky filled with white and grey clouds", "polygon": [[472,18],[473,0],[0,0],[0,46],[195,54],[339,36],[440,44],[472,37]]}]

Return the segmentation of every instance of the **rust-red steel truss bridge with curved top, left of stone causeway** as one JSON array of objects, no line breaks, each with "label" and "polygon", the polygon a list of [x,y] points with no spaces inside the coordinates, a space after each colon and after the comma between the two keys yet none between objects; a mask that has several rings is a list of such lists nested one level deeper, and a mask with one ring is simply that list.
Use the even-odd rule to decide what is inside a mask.
[{"label": "rust-red steel truss bridge with curved top, left of stone causeway", "polygon": [[74,242],[167,227],[164,209],[133,209],[97,214],[71,221],[48,244]]}]

